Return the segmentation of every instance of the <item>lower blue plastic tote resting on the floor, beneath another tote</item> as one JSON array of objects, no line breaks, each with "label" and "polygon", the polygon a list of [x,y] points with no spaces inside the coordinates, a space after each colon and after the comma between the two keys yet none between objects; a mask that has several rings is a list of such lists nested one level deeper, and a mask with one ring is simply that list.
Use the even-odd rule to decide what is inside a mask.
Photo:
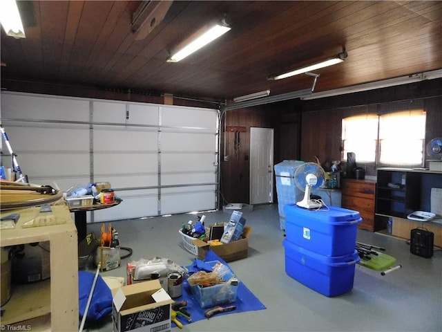
[{"label": "lower blue plastic tote resting on the floor, beneath another tote", "polygon": [[352,255],[327,257],[300,248],[285,239],[285,272],[301,284],[332,297],[352,290],[354,270],[360,261],[358,252]]}]

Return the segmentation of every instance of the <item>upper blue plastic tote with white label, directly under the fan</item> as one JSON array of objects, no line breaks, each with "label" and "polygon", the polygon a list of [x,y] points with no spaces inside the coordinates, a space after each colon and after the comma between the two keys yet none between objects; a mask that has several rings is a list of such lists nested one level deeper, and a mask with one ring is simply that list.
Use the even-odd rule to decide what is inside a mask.
[{"label": "upper blue plastic tote with white label, directly under the fan", "polygon": [[285,205],[286,239],[296,246],[325,256],[351,255],[356,246],[359,212],[330,206],[305,209]]}]

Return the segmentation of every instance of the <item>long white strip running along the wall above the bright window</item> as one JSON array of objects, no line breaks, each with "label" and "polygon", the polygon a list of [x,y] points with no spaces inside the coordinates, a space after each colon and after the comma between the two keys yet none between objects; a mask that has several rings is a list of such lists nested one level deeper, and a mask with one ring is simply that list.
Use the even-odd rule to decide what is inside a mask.
[{"label": "long white strip running along the wall above the bright window", "polygon": [[438,69],[436,71],[427,71],[425,73],[395,77],[395,78],[390,78],[388,80],[381,80],[377,82],[369,82],[365,84],[347,86],[345,88],[340,88],[340,89],[316,92],[312,93],[311,95],[302,97],[301,100],[311,100],[311,99],[332,97],[334,95],[345,95],[346,93],[355,93],[355,92],[368,91],[374,89],[382,89],[390,86],[421,82],[423,80],[434,80],[436,78],[442,78],[442,69]]}]

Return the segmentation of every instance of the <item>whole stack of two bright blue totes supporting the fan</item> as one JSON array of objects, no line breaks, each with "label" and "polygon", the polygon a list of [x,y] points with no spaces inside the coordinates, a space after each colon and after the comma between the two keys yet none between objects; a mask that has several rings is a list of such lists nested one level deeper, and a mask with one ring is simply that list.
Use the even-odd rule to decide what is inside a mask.
[{"label": "whole stack of two bright blue totes supporting the fan", "polygon": [[353,288],[359,212],[329,207],[307,210],[285,205],[285,272],[301,284],[332,297]]}]

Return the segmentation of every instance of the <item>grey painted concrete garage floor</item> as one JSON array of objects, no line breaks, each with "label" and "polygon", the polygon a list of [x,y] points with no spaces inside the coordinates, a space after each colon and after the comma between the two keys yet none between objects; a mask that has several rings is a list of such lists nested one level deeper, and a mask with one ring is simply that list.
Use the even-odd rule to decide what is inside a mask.
[{"label": "grey painted concrete garage floor", "polygon": [[[228,221],[230,216],[222,211],[205,214],[206,224]],[[215,316],[182,331],[442,331],[441,251],[425,259],[410,254],[403,239],[358,230],[357,241],[385,248],[402,268],[381,276],[356,265],[352,291],[326,297],[285,273],[278,205],[256,205],[244,217],[253,228],[249,257],[229,265],[267,308]],[[190,264],[195,256],[184,250],[178,233],[189,219],[197,220],[180,214],[113,222],[121,246],[132,248],[133,255],[102,275],[126,277],[126,263],[141,258],[166,257],[181,266]],[[99,234],[100,227],[101,223],[89,224],[88,232]],[[84,331],[112,331],[111,316],[86,327]]]}]

